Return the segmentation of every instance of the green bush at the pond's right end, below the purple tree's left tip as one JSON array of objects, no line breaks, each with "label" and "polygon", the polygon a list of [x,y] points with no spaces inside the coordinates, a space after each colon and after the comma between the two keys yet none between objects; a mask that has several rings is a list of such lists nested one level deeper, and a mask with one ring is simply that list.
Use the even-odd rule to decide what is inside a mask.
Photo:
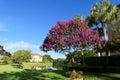
[{"label": "green bush at the pond's right end, below the purple tree's left tip", "polygon": [[56,67],[57,69],[63,69],[63,67],[66,65],[64,61],[65,59],[62,58],[54,59],[53,67]]}]

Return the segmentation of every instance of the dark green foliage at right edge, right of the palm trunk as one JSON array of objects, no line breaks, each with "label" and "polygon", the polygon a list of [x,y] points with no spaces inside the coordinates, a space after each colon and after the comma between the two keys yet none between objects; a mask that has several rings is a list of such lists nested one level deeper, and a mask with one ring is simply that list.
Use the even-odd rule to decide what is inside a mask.
[{"label": "dark green foliage at right edge, right of the palm trunk", "polygon": [[109,40],[105,49],[120,52],[120,20],[110,25]]}]

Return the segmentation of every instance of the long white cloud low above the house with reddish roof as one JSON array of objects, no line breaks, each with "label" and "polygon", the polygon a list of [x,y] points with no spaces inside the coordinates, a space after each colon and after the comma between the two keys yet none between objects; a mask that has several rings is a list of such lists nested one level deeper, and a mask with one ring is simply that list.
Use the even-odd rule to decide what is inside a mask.
[{"label": "long white cloud low above the house with reddish roof", "polygon": [[25,41],[18,41],[18,42],[11,42],[4,44],[6,50],[13,51],[19,49],[37,49],[39,48],[38,45],[30,44]]}]

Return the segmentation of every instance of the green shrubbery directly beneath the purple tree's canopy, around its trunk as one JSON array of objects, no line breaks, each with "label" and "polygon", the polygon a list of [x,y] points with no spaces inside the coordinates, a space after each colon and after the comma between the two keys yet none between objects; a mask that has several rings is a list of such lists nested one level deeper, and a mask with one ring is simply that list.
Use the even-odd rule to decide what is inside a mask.
[{"label": "green shrubbery directly beneath the purple tree's canopy, around its trunk", "polygon": [[[96,53],[94,53],[93,51],[90,50],[84,50],[84,57],[93,57],[96,56]],[[74,63],[73,63],[73,59],[74,59]],[[82,62],[82,55],[81,55],[81,51],[74,51],[71,53],[68,53],[66,55],[66,66],[67,67],[77,67],[81,65]]]}]

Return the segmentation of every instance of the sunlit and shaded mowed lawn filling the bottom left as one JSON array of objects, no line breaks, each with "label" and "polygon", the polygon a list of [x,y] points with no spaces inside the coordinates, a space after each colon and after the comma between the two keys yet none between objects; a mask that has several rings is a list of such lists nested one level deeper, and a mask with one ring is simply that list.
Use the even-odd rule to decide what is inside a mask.
[{"label": "sunlit and shaded mowed lawn filling the bottom left", "polygon": [[19,65],[0,65],[0,80],[68,80],[62,70],[31,70]]}]

